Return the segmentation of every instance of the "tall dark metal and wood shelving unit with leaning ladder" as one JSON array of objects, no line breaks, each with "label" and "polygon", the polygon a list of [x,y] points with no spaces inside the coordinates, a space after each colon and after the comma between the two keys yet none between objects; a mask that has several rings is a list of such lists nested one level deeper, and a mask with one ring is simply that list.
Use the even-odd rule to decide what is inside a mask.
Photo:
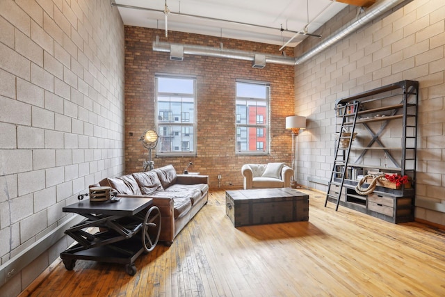
[{"label": "tall dark metal and wood shelving unit with leaning ladder", "polygon": [[[418,99],[418,81],[399,81],[336,102],[339,141],[325,206],[334,202],[391,223],[414,220]],[[407,175],[410,186],[359,195],[355,187],[368,171]]]}]

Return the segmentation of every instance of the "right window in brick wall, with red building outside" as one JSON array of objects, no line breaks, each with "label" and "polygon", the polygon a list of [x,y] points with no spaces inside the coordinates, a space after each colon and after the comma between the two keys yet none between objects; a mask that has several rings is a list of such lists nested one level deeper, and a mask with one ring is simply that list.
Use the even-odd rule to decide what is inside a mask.
[{"label": "right window in brick wall, with red building outside", "polygon": [[236,81],[236,153],[268,154],[269,83]]}]

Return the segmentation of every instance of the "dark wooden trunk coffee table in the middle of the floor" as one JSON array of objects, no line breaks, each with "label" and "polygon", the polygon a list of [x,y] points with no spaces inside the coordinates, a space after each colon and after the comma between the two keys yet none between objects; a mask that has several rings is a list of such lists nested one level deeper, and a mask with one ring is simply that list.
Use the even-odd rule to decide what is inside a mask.
[{"label": "dark wooden trunk coffee table in the middle of the floor", "polygon": [[309,220],[309,195],[293,188],[226,191],[225,202],[235,227]]}]

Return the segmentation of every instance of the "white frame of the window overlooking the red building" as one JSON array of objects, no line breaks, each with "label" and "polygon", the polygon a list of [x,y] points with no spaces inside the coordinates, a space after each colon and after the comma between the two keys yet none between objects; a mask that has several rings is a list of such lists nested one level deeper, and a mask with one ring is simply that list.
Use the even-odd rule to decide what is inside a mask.
[{"label": "white frame of the window overlooking the red building", "polygon": [[[252,85],[260,85],[264,86],[266,88],[265,91],[265,97],[264,99],[261,98],[254,98],[254,97],[241,97],[238,96],[238,83],[248,83]],[[254,123],[248,123],[248,111],[246,111],[247,119],[246,123],[242,124],[241,120],[241,114],[238,114],[238,100],[240,101],[254,101],[254,102],[264,102],[266,106],[266,111],[264,115],[266,115],[266,120],[264,120],[264,115],[256,115],[254,119]],[[246,105],[247,106],[247,105]],[[257,105],[258,106],[258,105]],[[259,122],[259,119],[261,120],[261,123]],[[235,154],[238,155],[268,155],[270,154],[270,83],[266,81],[251,81],[251,80],[245,80],[245,79],[236,79],[235,84]],[[265,138],[264,141],[261,141],[264,146],[266,146],[266,150],[259,151],[258,150],[258,140],[255,138],[255,150],[241,150],[241,147],[243,147],[243,144],[247,144],[247,149],[249,148],[249,129],[254,128],[254,136],[255,137],[261,137]],[[242,130],[245,129],[245,139],[246,141],[243,142],[242,138],[243,132]],[[257,129],[263,129],[264,136],[257,136]],[[239,132],[241,131],[241,133]],[[253,134],[252,134],[253,135]],[[264,147],[263,146],[263,147]]]}]

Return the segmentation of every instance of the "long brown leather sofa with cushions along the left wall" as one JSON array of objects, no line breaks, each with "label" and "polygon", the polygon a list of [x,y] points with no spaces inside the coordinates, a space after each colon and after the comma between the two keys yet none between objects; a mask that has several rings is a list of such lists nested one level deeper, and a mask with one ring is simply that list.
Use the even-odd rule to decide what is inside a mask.
[{"label": "long brown leather sofa with cushions along the left wall", "polygon": [[163,241],[165,246],[170,246],[175,236],[207,204],[209,193],[207,175],[177,175],[172,165],[121,177],[108,177],[102,179],[99,185],[111,186],[118,192],[117,197],[121,198],[153,198],[153,204],[161,211],[159,241]]}]

